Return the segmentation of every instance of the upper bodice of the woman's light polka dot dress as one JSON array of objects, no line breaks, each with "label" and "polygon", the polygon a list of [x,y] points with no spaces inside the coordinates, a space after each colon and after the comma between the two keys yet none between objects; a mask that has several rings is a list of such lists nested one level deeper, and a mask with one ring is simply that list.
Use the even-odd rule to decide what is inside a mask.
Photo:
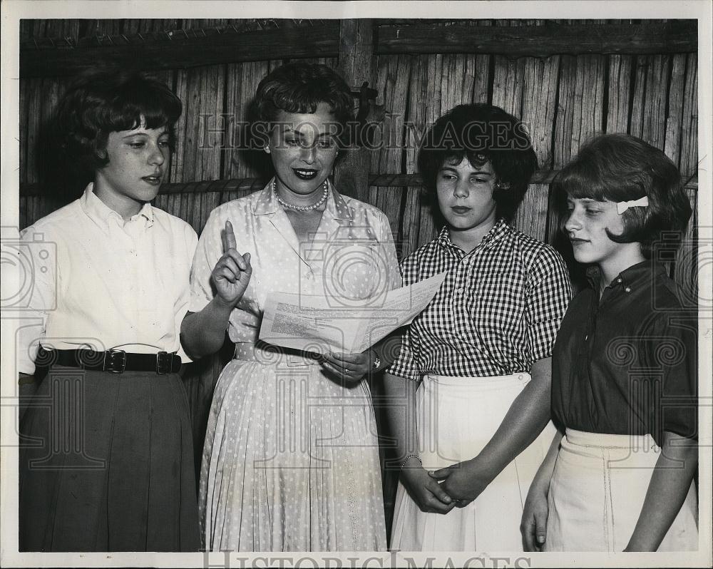
[{"label": "upper bodice of the woman's light polka dot dress", "polygon": [[241,254],[250,253],[252,277],[233,309],[228,335],[238,359],[270,361],[255,347],[265,302],[272,292],[324,296],[332,307],[347,309],[349,299],[379,297],[401,286],[389,220],[381,210],[329,186],[327,205],[314,238],[300,243],[272,182],[246,198],[220,205],[208,217],[191,270],[191,312],[214,296],[210,275],[223,254],[225,222],[232,223]]}]

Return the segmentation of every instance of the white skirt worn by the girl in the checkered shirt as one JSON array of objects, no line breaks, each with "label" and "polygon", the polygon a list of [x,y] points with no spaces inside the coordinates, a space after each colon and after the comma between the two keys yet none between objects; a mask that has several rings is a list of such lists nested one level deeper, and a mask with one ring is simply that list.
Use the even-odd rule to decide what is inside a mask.
[{"label": "white skirt worn by the girl in the checkered shirt", "polygon": [[[444,468],[477,456],[530,379],[527,373],[424,376],[416,392],[419,455],[424,468]],[[522,551],[523,504],[554,434],[550,423],[476,500],[445,515],[421,511],[399,482],[391,549]]]}]

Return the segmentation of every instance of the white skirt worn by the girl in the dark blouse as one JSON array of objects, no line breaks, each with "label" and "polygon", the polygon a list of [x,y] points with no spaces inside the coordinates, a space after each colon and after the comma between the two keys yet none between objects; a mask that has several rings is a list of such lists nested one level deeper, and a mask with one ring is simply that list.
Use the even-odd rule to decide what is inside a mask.
[{"label": "white skirt worn by the girl in the dark blouse", "polygon": [[[567,429],[548,495],[545,551],[622,551],[629,543],[661,453],[650,435]],[[659,551],[698,548],[694,484]]]}]

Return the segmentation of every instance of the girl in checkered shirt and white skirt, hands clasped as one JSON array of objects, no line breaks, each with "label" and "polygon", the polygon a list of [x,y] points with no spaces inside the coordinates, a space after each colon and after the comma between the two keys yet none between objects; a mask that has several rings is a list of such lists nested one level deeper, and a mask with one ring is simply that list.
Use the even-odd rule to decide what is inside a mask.
[{"label": "girl in checkered shirt and white skirt, hands clasped", "polygon": [[447,275],[385,376],[401,461],[396,550],[523,550],[570,298],[558,253],[509,225],[536,166],[522,123],[484,104],[453,108],[421,147],[445,225],[404,260],[403,284]]}]

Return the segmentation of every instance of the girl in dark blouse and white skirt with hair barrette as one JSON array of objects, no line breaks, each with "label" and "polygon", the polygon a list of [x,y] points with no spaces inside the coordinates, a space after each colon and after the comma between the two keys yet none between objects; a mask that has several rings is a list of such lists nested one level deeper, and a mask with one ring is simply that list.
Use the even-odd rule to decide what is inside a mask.
[{"label": "girl in dark blouse and white skirt with hair barrette", "polygon": [[554,184],[590,287],[553,350],[555,436],[523,512],[528,550],[694,550],[697,314],[657,261],[691,215],[677,168],[595,138]]}]

